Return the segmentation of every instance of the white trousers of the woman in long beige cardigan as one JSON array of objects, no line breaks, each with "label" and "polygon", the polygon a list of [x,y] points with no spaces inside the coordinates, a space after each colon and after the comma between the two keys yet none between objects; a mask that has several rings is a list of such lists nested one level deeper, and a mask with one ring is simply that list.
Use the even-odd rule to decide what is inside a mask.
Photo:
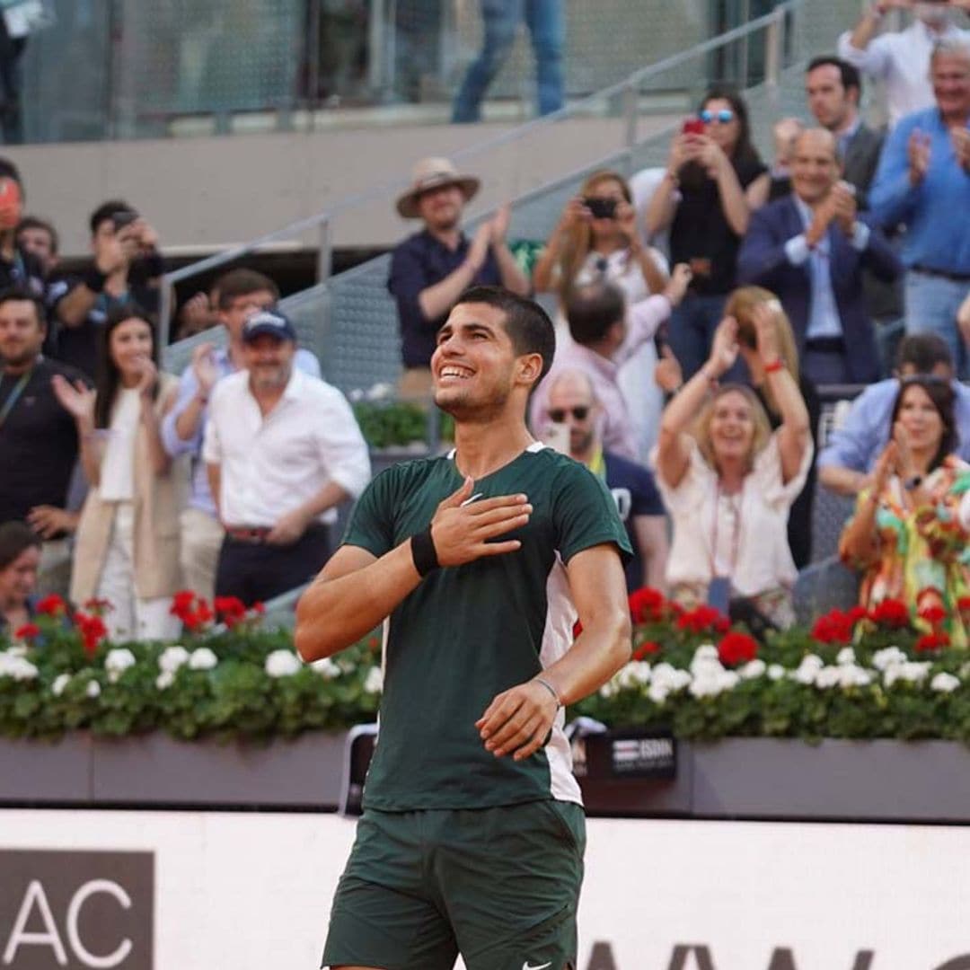
[{"label": "white trousers of the woman in long beige cardigan", "polygon": [[135,595],[134,527],[134,506],[119,501],[97,593],[113,607],[104,618],[108,634],[114,641],[174,639],[179,624],[169,612],[172,598],[140,599]]}]

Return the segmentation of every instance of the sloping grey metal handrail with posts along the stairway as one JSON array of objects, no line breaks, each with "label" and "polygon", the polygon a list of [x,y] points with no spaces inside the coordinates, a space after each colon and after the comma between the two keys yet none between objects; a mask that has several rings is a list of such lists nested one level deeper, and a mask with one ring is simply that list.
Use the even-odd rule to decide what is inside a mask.
[{"label": "sloping grey metal handrail with posts along the stairway", "polygon": [[[553,131],[564,122],[596,117],[613,118],[619,121],[616,130],[611,130],[612,137],[619,136],[618,144],[612,150],[602,150],[599,146],[598,158],[615,156],[616,152],[627,159],[629,168],[634,148],[642,141],[639,137],[639,127],[644,116],[643,102],[651,92],[651,82],[669,77],[670,72],[700,62],[708,55],[730,49],[732,45],[742,46],[742,56],[739,58],[747,73],[749,57],[748,50],[753,38],[763,32],[763,86],[769,100],[773,99],[777,91],[783,65],[786,59],[786,31],[792,18],[803,7],[804,0],[786,0],[773,11],[760,16],[749,23],[735,27],[718,37],[712,38],[695,47],[680,51],[662,60],[633,72],[622,81],[611,84],[597,91],[559,112],[535,118],[523,125],[503,132],[492,138],[485,139],[475,145],[460,149],[452,154],[456,164],[468,165],[476,160],[481,161],[488,155],[498,155],[503,149],[514,150],[525,146],[533,139]],[[699,78],[699,86],[704,86],[708,79]],[[688,102],[682,107],[686,108]],[[577,167],[578,171],[578,167]],[[539,190],[548,188],[549,184],[562,178],[562,173],[544,178]],[[334,227],[339,217],[359,210],[364,206],[380,201],[389,201],[400,193],[407,185],[407,179],[393,178],[364,192],[355,193],[339,202],[334,203],[313,215],[299,219],[283,226],[271,233],[267,233],[249,242],[233,246],[224,252],[210,256],[186,266],[174,273],[166,275],[170,286],[162,289],[161,307],[161,337],[163,345],[168,342],[169,326],[172,319],[172,293],[175,284],[195,276],[209,273],[219,267],[227,266],[249,254],[257,252],[261,247],[284,240],[307,238],[307,234],[315,234],[317,244],[317,283],[329,280],[332,271],[332,254],[334,246]],[[513,196],[516,203],[521,203],[534,194],[530,189],[517,192]],[[479,214],[481,214],[479,212]]]}]

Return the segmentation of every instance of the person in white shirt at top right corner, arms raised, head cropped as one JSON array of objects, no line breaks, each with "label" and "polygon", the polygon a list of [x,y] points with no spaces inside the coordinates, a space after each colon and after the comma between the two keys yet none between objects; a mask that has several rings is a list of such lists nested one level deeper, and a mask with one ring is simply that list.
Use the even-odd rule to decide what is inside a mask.
[{"label": "person in white shirt at top right corner, arms raised, head cropped", "polygon": [[[876,37],[884,16],[892,10],[913,11],[913,23],[897,33]],[[886,83],[889,127],[904,115],[932,108],[929,55],[938,41],[970,40],[970,31],[954,24],[958,11],[970,11],[970,0],[877,0],[852,30],[839,38],[839,56],[859,71]]]}]

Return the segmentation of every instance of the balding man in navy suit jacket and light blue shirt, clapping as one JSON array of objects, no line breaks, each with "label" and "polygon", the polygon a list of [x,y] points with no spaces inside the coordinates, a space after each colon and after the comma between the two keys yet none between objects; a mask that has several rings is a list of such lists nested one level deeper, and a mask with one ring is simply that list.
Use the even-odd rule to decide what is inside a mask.
[{"label": "balding man in navy suit jacket and light blue shirt, clapping", "polygon": [[879,376],[862,270],[890,280],[902,266],[880,232],[857,216],[839,180],[835,138],[803,132],[792,158],[792,195],[756,211],[738,255],[742,283],[774,291],[792,321],[802,370],[816,384]]}]

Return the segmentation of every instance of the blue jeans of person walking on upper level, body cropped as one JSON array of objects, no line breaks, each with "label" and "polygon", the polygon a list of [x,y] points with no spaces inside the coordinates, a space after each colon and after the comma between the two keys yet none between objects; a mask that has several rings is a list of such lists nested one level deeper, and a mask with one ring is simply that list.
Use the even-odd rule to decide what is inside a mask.
[{"label": "blue jeans of person walking on upper level, body cropped", "polygon": [[481,7],[484,43],[455,98],[451,120],[479,120],[485,91],[501,71],[523,18],[529,27],[535,54],[538,113],[559,111],[563,107],[563,48],[566,44],[563,0],[482,0]]}]

